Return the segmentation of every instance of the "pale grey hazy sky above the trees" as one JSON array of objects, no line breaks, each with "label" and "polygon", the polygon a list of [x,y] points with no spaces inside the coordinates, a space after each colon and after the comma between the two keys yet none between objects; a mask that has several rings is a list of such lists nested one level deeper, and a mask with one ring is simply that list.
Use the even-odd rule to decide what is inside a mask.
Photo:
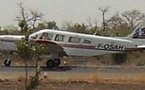
[{"label": "pale grey hazy sky above the trees", "polygon": [[20,2],[27,12],[30,9],[41,12],[43,20],[56,21],[59,27],[65,22],[99,22],[98,8],[104,7],[110,7],[107,17],[135,9],[145,13],[145,0],[0,0],[0,26],[17,26],[16,17],[20,15],[17,4]]}]

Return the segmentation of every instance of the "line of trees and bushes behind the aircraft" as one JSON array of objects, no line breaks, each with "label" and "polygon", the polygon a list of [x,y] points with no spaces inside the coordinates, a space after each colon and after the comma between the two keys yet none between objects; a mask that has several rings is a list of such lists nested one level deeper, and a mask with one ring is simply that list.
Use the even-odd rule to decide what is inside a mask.
[{"label": "line of trees and bushes behind the aircraft", "polygon": [[[57,26],[55,21],[44,21],[43,14],[36,10],[26,11],[23,3],[18,3],[19,15],[16,17],[18,27],[7,26],[0,30],[0,34],[26,34],[41,29],[58,29],[77,33],[96,34],[101,36],[126,36],[138,25],[145,14],[139,10],[130,10],[123,13],[116,13],[106,18],[110,7],[98,8],[102,18],[101,24],[91,23],[66,23],[62,28]],[[20,28],[20,30],[18,29]]]}]

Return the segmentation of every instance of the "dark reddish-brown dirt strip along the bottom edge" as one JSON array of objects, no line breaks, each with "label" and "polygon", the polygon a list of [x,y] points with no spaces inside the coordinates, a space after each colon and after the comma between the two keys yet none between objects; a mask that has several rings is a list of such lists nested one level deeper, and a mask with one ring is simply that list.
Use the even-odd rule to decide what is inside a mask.
[{"label": "dark reddish-brown dirt strip along the bottom edge", "polygon": [[[24,90],[24,81],[21,80],[0,81],[0,90]],[[145,90],[145,84],[41,81],[41,84],[35,90]]]}]

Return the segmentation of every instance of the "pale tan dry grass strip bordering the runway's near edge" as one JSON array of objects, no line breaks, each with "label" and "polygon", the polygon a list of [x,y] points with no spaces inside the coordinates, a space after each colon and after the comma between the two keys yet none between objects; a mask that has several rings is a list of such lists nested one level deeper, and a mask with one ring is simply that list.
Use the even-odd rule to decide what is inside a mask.
[{"label": "pale tan dry grass strip bordering the runway's near edge", "polygon": [[[8,73],[10,75],[5,75],[0,73],[0,82],[6,80],[15,80],[18,82],[24,81],[24,73]],[[33,74],[29,74],[31,78]],[[101,74],[100,74],[101,75]],[[70,74],[67,76],[55,75],[54,73],[48,74],[47,76],[40,76],[41,82],[63,82],[63,83],[112,83],[112,84],[143,84],[145,83],[145,74],[137,75],[116,75],[114,76],[105,76],[105,75],[94,75],[94,74]],[[111,77],[111,78],[110,78]]]}]

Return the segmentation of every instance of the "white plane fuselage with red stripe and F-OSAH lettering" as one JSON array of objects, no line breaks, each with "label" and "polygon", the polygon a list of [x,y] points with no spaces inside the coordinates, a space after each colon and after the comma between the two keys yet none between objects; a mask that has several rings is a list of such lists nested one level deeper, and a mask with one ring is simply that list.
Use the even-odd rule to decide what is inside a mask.
[{"label": "white plane fuselage with red stripe and F-OSAH lettering", "polygon": [[96,56],[123,53],[137,50],[137,45],[139,44],[123,38],[102,37],[49,29],[33,33],[29,38],[42,39],[44,33],[47,33],[50,42],[61,46],[69,56]]}]

